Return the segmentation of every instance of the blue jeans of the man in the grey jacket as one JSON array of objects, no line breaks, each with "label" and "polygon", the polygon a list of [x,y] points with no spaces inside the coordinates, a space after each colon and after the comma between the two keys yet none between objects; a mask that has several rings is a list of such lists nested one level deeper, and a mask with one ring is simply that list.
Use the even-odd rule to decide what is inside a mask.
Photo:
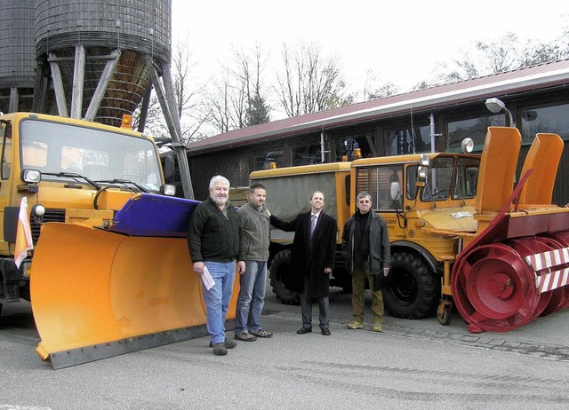
[{"label": "blue jeans of the man in the grey jacket", "polygon": [[245,272],[241,275],[241,288],[237,297],[235,333],[259,330],[260,313],[265,304],[267,284],[267,262],[245,261]]}]

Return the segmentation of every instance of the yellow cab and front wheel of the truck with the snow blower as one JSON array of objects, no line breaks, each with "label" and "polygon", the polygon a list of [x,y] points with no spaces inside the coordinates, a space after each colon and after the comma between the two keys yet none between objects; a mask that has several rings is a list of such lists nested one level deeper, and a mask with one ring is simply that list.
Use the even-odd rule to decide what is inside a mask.
[{"label": "yellow cab and front wheel of the truck with the snow blower", "polygon": [[479,167],[480,155],[452,153],[352,162],[351,197],[370,193],[388,225],[392,266],[383,294],[391,316],[418,319],[437,309],[445,261],[477,233]]}]

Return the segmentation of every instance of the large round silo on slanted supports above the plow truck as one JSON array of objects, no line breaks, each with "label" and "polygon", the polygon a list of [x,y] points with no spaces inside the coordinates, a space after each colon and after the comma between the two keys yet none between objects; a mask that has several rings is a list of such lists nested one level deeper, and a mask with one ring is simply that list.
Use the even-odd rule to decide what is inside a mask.
[{"label": "large round silo on slanted supports above the plow truck", "polygon": [[37,111],[119,125],[149,66],[169,67],[170,38],[171,0],[36,0]]}]

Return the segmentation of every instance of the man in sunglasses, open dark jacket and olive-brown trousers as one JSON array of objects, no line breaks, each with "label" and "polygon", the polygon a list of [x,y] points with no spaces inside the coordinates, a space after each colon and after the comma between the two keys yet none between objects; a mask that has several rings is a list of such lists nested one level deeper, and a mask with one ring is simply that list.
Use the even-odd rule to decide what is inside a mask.
[{"label": "man in sunglasses, open dark jacket and olive-brown trousers", "polygon": [[352,274],[352,309],[354,321],[349,329],[364,327],[364,290],[367,279],[372,291],[373,331],[381,332],[383,325],[383,296],[381,282],[389,273],[391,253],[385,220],[372,209],[372,195],[357,194],[357,211],[346,221],[341,244],[346,263]]}]

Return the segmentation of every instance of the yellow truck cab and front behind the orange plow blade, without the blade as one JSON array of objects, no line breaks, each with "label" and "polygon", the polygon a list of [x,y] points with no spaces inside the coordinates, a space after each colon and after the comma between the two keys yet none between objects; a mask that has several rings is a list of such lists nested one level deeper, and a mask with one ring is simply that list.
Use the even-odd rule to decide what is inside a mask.
[{"label": "yellow truck cab and front behind the orange plow blade, without the blade", "polygon": [[4,114],[0,125],[1,308],[29,300],[33,252],[14,264],[22,197],[35,244],[45,222],[105,224],[132,194],[164,192],[164,176],[152,138],[133,130],[31,113]]}]

